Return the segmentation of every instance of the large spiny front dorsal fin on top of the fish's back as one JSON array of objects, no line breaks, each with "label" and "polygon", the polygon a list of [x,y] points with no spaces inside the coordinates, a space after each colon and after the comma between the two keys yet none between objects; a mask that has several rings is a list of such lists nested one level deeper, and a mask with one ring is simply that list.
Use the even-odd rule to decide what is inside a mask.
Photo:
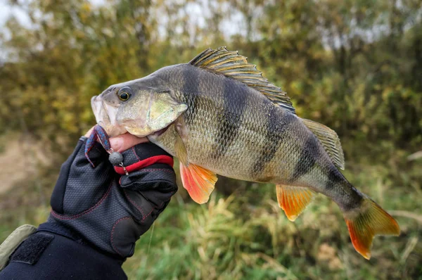
[{"label": "large spiny front dorsal fin on top of the fish's back", "polygon": [[248,63],[245,56],[239,55],[237,51],[227,51],[225,46],[215,50],[206,49],[189,63],[237,79],[248,87],[260,91],[276,105],[295,113],[295,108],[286,92],[274,84],[270,84],[267,79],[262,77],[262,72],[257,70],[255,65]]}]

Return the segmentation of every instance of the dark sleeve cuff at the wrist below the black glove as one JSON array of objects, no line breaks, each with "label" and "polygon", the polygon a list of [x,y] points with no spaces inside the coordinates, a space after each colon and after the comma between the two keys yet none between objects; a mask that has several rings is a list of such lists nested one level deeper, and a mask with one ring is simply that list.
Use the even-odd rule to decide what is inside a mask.
[{"label": "dark sleeve cuff at the wrist below the black glove", "polygon": [[37,231],[11,255],[1,279],[127,279],[122,260],[68,236]]}]

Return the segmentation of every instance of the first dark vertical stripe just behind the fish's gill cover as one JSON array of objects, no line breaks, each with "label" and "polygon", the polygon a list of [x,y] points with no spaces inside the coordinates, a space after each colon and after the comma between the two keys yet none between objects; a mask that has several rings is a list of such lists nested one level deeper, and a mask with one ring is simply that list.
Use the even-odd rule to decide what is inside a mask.
[{"label": "first dark vertical stripe just behind the fish's gill cover", "polygon": [[183,92],[182,101],[188,106],[184,114],[184,120],[187,125],[191,125],[195,118],[195,108],[198,105],[199,95],[199,73],[198,69],[193,67],[186,67],[183,70],[184,81],[181,91]]}]

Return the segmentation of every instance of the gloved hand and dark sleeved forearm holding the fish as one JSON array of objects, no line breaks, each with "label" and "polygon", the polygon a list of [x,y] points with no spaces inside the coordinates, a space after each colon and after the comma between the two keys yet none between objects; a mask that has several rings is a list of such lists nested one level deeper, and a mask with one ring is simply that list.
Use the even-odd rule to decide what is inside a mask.
[{"label": "gloved hand and dark sleeved forearm holding the fish", "polygon": [[129,134],[110,143],[118,139],[122,146],[111,146],[124,168],[113,167],[95,142],[88,152],[93,167],[84,154],[87,137],[79,139],[62,165],[48,221],[19,227],[1,244],[1,280],[127,279],[122,262],[177,184],[168,153]]}]

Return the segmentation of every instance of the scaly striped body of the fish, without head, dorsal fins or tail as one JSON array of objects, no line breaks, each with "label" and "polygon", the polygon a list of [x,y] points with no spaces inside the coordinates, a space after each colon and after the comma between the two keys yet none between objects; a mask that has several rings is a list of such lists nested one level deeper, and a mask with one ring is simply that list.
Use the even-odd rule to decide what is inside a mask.
[{"label": "scaly striped body of the fish, without head, dorsal fins or tail", "polygon": [[[183,117],[189,163],[234,179],[308,187],[343,208],[359,203],[357,190],[300,117],[259,91],[190,64],[162,68],[155,75],[188,105]],[[172,127],[148,136],[174,156],[176,137]],[[342,201],[344,193],[354,197]]]}]

